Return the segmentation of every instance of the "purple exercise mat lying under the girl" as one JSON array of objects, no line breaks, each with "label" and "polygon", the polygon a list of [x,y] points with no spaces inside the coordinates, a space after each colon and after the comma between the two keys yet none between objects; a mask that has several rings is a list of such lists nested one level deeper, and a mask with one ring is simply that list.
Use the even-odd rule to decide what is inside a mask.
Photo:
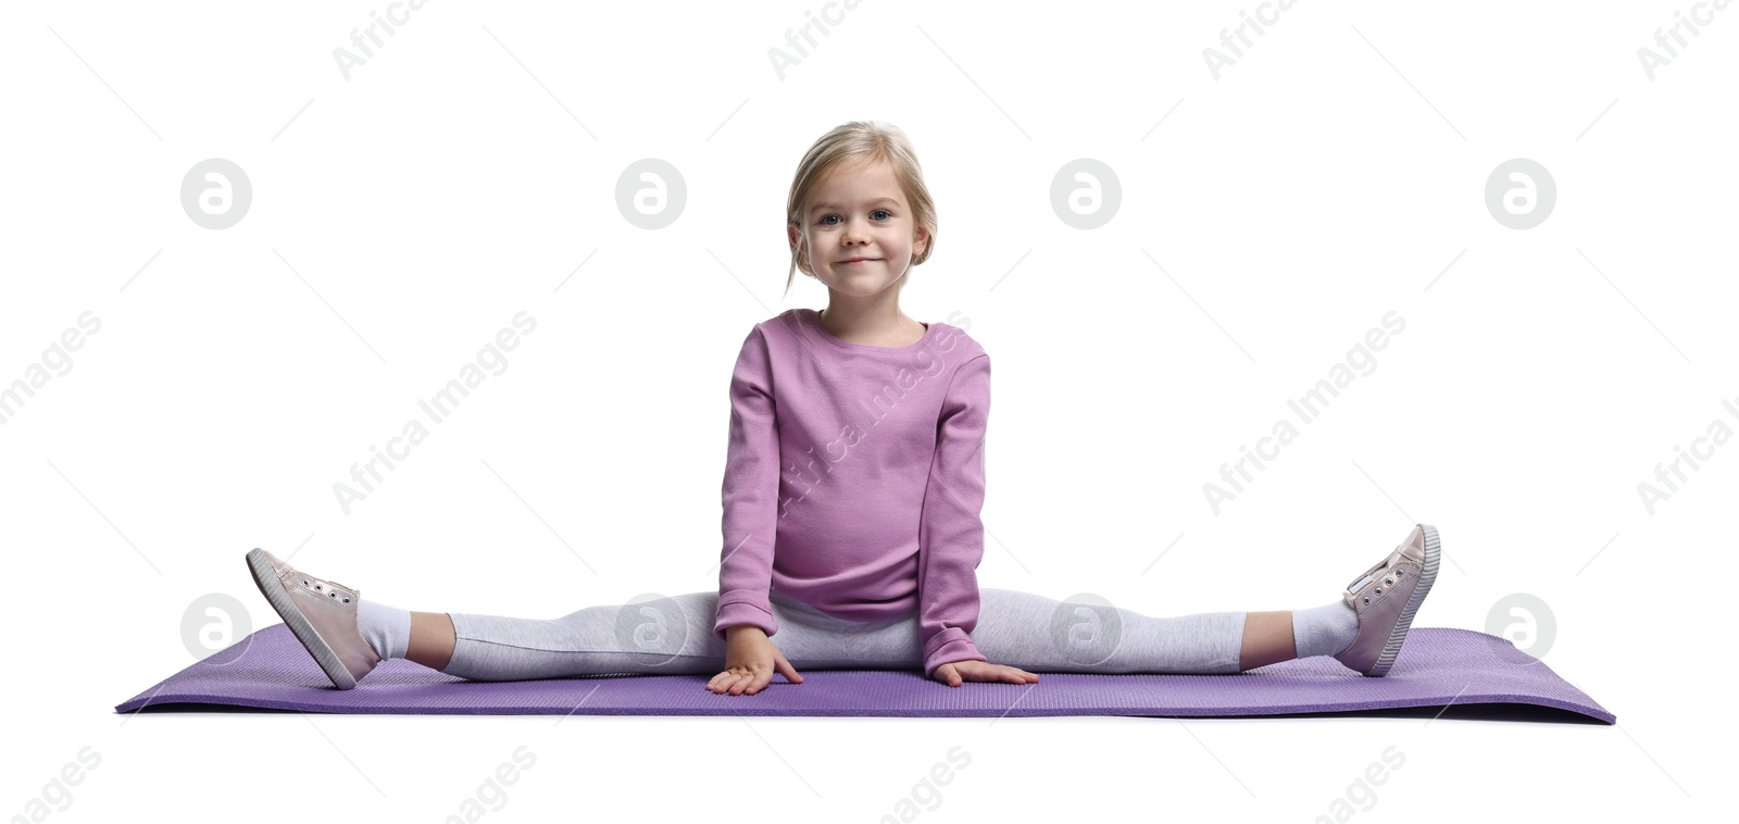
[{"label": "purple exercise mat lying under the girl", "polygon": [[[219,704],[379,714],[783,714],[783,716],[1245,716],[1527,704],[1616,723],[1595,699],[1508,640],[1414,628],[1395,668],[1365,678],[1329,657],[1240,674],[1040,673],[1038,683],[948,687],[911,669],[810,669],[756,695],[715,695],[706,674],[607,674],[466,681],[403,659],[339,690],[283,624],[268,626],[115,708]],[[165,704],[183,704],[165,708]]]}]

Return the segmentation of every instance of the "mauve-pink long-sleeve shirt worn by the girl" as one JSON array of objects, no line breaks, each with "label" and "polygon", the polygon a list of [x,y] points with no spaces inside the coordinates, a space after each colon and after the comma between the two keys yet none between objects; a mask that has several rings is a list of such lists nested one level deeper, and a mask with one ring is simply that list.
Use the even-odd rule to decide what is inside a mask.
[{"label": "mauve-pink long-sleeve shirt worn by the girl", "polygon": [[816,309],[756,323],[730,375],[713,633],[779,631],[769,593],[847,621],[918,614],[925,676],[972,645],[984,556],[989,355],[927,323],[866,346]]}]

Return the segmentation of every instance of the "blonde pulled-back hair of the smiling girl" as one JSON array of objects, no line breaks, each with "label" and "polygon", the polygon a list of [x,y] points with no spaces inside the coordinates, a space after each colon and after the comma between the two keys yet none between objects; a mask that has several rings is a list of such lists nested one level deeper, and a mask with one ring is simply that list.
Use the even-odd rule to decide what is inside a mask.
[{"label": "blonde pulled-back hair of the smiling girl", "polygon": [[[784,294],[791,294],[796,269],[803,269],[803,275],[812,278],[816,276],[809,256],[803,254],[807,252],[803,249],[807,242],[802,231],[802,205],[809,200],[809,193],[816,188],[816,183],[836,167],[875,162],[887,162],[894,167],[894,177],[899,181],[901,189],[904,189],[906,200],[911,202],[913,224],[923,228],[929,236],[923,250],[913,252],[911,266],[930,259],[930,252],[936,250],[936,200],[930,198],[930,188],[923,184],[923,167],[918,165],[918,153],[913,151],[906,132],[896,125],[878,120],[852,120],[823,134],[796,165],[796,177],[791,179],[791,195],[786,200],[784,216],[786,226],[798,228],[798,240],[791,242],[791,269],[784,276]],[[790,235],[786,236],[790,238]],[[904,280],[901,285],[904,285]]]}]

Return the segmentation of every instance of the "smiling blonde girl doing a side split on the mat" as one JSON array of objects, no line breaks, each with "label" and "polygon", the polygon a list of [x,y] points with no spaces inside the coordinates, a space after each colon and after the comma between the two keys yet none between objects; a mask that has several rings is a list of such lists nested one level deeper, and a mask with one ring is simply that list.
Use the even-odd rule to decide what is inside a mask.
[{"label": "smiling blonde girl doing a side split on the mat", "polygon": [[1309,655],[1389,671],[1436,579],[1428,525],[1306,610],[1149,617],[981,589],[989,355],[965,330],[899,309],[937,226],[906,136],[873,122],[823,136],[796,169],[786,219],[786,292],[802,269],[828,287],[828,308],[784,311],[743,341],[718,591],[553,621],[405,612],[247,553],[337,688],[393,657],[480,681],[716,673],[706,688],[722,695],[753,695],[774,673],[803,683],[798,668],[922,668],[949,687],[1240,673]]}]

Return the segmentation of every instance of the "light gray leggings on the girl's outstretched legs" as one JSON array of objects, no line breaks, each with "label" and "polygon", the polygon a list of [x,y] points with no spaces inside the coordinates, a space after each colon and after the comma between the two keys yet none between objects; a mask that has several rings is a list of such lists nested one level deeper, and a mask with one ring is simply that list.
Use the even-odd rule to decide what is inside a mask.
[{"label": "light gray leggings on the girl's outstretched legs", "polygon": [[[777,591],[770,638],[803,669],[923,669],[918,615],[859,622]],[[452,612],[457,643],[443,673],[473,681],[577,674],[718,674],[718,593],[586,607],[539,621]],[[972,643],[991,664],[1031,673],[1238,673],[1245,612],[1148,617],[1103,603],[1064,603],[979,588]]]}]

